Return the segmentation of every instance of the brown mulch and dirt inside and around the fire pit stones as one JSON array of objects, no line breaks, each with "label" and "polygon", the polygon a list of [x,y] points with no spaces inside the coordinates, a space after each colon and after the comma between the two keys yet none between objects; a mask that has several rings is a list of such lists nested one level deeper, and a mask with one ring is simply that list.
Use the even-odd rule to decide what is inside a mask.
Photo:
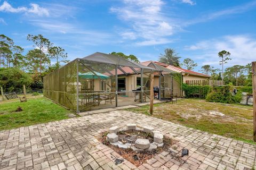
[{"label": "brown mulch and dirt inside and around the fire pit stones", "polygon": [[[134,143],[138,138],[140,139],[148,139],[150,142],[153,142],[153,137],[145,132],[121,132],[117,133],[119,137],[119,141]],[[169,151],[169,148],[177,143],[177,141],[164,137],[164,146],[162,148],[158,147],[157,149],[151,150],[151,151],[133,151],[132,149],[122,149],[118,148],[117,146],[110,145],[109,142],[107,142],[107,133],[101,134],[99,137],[97,137],[98,140],[103,143],[104,145],[110,147],[113,149],[117,154],[121,155],[124,159],[128,160],[135,166],[140,166],[143,163],[146,162],[146,160],[151,159],[156,154],[160,154],[162,151]],[[178,158],[176,158],[178,159]],[[182,160],[182,159],[181,159]]]}]

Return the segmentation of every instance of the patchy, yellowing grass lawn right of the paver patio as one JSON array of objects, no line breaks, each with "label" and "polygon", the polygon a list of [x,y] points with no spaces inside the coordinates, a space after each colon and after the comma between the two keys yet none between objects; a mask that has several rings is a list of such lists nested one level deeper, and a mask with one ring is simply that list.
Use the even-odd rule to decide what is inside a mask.
[{"label": "patchy, yellowing grass lawn right of the paver patio", "polygon": [[[149,115],[149,106],[128,109]],[[253,107],[181,99],[154,105],[154,117],[225,137],[253,142]]]}]

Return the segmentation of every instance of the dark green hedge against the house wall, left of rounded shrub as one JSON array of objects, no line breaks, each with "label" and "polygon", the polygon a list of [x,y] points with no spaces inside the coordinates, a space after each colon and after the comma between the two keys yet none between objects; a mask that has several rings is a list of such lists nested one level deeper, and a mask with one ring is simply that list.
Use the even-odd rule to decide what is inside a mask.
[{"label": "dark green hedge against the house wall, left of rounded shrub", "polygon": [[198,94],[198,92],[202,98],[205,98],[211,90],[211,86],[188,86],[188,84],[183,83],[182,90],[187,98],[193,98],[194,94]]}]

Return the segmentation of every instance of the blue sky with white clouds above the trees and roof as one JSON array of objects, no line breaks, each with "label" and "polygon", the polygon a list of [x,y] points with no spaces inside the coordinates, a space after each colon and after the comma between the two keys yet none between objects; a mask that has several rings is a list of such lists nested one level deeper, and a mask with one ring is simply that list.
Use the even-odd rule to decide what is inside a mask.
[{"label": "blue sky with white clouds above the trees and roof", "polygon": [[[42,34],[68,59],[95,52],[133,54],[157,61],[173,48],[180,61],[200,71],[220,68],[218,52],[231,53],[225,67],[256,61],[256,1],[241,0],[0,0],[0,34],[33,49],[27,35]],[[52,61],[54,63],[54,61]]]}]

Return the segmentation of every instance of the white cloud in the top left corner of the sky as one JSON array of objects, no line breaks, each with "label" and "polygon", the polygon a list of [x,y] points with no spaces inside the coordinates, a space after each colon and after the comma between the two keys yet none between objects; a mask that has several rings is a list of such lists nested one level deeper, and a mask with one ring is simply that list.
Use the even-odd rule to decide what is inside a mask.
[{"label": "white cloud in the top left corner of the sky", "polygon": [[31,3],[30,8],[21,6],[14,8],[8,2],[4,1],[4,3],[0,6],[0,11],[2,12],[11,12],[11,13],[32,13],[39,16],[49,16],[49,11],[46,8],[40,7],[38,4]]}]

